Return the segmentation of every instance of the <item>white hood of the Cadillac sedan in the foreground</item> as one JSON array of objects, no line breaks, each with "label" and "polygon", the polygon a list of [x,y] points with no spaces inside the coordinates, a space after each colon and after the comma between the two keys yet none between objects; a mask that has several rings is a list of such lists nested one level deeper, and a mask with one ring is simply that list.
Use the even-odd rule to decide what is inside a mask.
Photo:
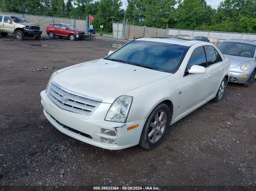
[{"label": "white hood of the Cadillac sedan in the foreground", "polygon": [[172,74],[105,59],[76,65],[52,79],[62,87],[105,103]]}]

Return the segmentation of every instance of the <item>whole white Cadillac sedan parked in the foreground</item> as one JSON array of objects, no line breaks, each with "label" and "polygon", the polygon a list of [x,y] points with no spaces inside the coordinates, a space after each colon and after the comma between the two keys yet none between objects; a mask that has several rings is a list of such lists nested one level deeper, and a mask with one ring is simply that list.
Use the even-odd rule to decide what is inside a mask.
[{"label": "whole white Cadillac sedan parked in the foreground", "polygon": [[169,125],[209,100],[221,101],[229,69],[210,43],[141,38],[54,72],[41,103],[53,126],[80,141],[153,149]]}]

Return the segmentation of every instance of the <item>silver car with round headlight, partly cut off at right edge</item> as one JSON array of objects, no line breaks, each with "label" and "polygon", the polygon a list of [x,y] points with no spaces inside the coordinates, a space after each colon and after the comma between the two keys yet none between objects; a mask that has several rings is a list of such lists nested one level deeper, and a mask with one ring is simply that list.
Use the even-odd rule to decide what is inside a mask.
[{"label": "silver car with round headlight, partly cut off at right edge", "polygon": [[218,49],[230,59],[229,81],[251,87],[256,78],[256,40],[225,40]]}]

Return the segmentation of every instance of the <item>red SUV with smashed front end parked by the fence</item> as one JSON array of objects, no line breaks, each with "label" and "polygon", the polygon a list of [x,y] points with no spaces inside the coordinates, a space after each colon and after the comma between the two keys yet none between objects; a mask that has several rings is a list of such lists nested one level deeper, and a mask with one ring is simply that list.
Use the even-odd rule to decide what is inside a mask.
[{"label": "red SUV with smashed front end parked by the fence", "polygon": [[85,31],[77,30],[69,24],[52,23],[46,28],[46,33],[50,38],[69,38],[70,40],[83,39]]}]

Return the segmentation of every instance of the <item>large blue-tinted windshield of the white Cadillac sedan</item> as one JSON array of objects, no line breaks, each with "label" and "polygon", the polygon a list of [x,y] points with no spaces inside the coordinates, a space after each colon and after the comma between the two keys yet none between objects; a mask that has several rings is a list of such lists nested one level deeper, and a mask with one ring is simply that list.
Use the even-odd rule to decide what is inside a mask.
[{"label": "large blue-tinted windshield of the white Cadillac sedan", "polygon": [[175,73],[187,49],[177,44],[135,40],[105,59]]}]

